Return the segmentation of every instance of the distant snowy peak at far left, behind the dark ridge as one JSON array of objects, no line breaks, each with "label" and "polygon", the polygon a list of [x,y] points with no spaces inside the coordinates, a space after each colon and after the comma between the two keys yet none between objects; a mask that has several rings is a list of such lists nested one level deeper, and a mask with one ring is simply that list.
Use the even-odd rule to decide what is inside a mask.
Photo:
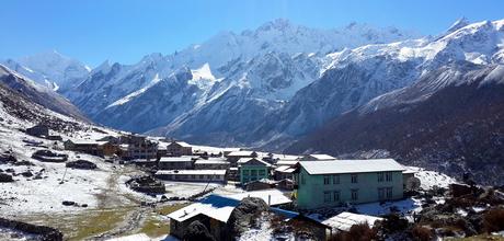
[{"label": "distant snowy peak at far left, behind the dark ridge", "polygon": [[91,71],[90,67],[55,50],[19,59],[7,59],[2,64],[58,92],[72,88],[73,84],[84,80]]}]

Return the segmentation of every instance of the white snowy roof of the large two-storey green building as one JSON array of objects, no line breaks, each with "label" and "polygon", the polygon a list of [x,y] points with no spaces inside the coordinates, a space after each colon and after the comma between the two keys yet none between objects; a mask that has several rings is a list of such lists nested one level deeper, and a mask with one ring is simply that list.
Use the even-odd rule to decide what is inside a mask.
[{"label": "white snowy roof of the large two-storey green building", "polygon": [[360,173],[404,171],[405,168],[393,159],[301,161],[309,174]]}]

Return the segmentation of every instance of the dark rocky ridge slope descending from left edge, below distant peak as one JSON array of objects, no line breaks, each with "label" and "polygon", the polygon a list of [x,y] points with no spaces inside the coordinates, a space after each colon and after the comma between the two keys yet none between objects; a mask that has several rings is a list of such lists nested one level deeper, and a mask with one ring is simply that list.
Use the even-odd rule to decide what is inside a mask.
[{"label": "dark rocky ridge slope descending from left edge, below distant peak", "polygon": [[[67,99],[2,65],[0,65],[0,83],[3,88],[9,89],[10,92],[15,92],[16,95],[22,95],[30,102],[42,105],[45,108],[62,115],[71,116],[76,119],[84,122],[88,120],[79,108],[71,104]],[[10,99],[9,96],[11,95],[12,94],[5,94],[2,95],[2,97]],[[15,104],[14,99],[9,101]],[[21,112],[21,110],[18,112]],[[30,115],[28,112],[25,113],[25,115]]]}]

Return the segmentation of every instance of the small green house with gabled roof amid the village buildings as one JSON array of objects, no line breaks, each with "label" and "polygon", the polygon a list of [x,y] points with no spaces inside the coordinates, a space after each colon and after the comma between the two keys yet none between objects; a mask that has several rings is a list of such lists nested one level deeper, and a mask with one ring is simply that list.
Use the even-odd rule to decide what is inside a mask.
[{"label": "small green house with gabled roof amid the village buildings", "polygon": [[257,158],[241,158],[238,160],[238,167],[242,185],[270,177],[271,164]]}]

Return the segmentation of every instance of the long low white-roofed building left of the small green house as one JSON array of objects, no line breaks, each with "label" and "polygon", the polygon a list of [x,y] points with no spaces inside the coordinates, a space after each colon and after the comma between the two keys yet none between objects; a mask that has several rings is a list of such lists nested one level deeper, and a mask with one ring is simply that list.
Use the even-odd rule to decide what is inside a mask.
[{"label": "long low white-roofed building left of the small green house", "polygon": [[219,182],[225,183],[226,170],[160,170],[156,177],[181,182]]}]

